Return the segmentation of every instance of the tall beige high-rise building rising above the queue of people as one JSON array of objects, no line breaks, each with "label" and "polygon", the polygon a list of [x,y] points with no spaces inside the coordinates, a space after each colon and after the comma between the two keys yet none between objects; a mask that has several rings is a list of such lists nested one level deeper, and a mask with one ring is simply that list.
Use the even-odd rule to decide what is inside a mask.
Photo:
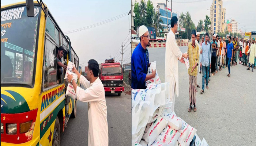
[{"label": "tall beige high-rise building rising above the queue of people", "polygon": [[222,7],[222,0],[212,0],[210,9],[211,34],[218,34],[225,30],[226,9]]}]

